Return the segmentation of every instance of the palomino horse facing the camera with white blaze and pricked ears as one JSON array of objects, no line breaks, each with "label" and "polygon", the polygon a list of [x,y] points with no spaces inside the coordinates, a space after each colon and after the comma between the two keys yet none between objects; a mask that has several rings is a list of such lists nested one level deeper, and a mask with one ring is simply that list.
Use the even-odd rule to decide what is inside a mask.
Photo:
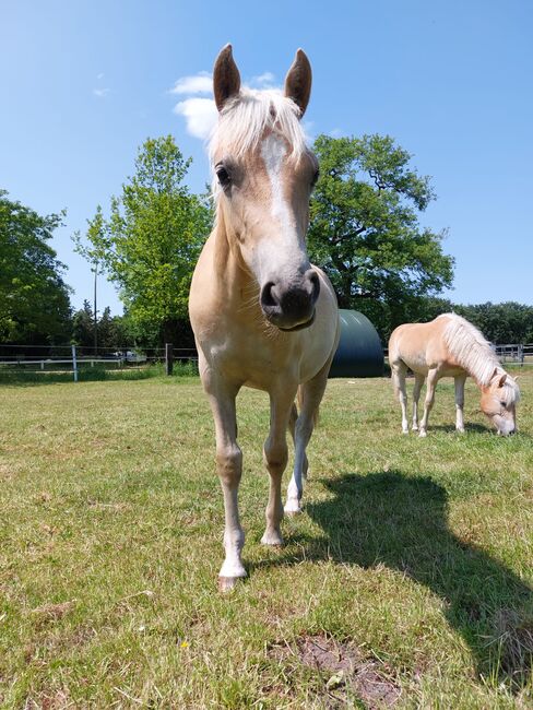
[{"label": "palomino horse facing the camera with white blaze and pricked ears", "polygon": [[263,447],[270,496],[261,542],[281,545],[286,430],[295,440],[295,462],[285,510],[298,512],[306,447],[337,345],[339,313],[332,286],[309,263],[305,242],[309,196],[318,177],[299,122],[311,88],[309,60],[297,51],[284,95],[251,92],[240,88],[227,45],[216,59],[213,83],[218,123],[210,156],[216,220],[194,270],[189,312],[215,423],[226,553],[218,579],[226,590],[246,577],[237,505],[242,455],[236,395],[247,384],[270,397],[270,434]]}]

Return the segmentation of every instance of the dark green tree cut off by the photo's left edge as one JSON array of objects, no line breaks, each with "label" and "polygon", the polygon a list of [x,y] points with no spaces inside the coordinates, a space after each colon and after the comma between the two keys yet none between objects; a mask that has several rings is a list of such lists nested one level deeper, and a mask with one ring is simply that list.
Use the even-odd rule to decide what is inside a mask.
[{"label": "dark green tree cut off by the photo's left edge", "polygon": [[63,214],[42,216],[0,190],[0,342],[64,342],[70,288],[48,241]]}]

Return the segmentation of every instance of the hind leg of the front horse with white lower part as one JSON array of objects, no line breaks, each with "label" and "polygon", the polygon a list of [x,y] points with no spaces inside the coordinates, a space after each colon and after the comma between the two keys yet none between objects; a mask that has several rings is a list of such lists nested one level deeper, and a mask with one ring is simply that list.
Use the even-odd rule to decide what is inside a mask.
[{"label": "hind leg of the front horse with white lower part", "polygon": [[318,407],[328,382],[329,369],[330,363],[328,363],[312,380],[300,384],[298,391],[300,399],[300,413],[295,424],[294,469],[288,484],[287,501],[285,504],[285,512],[291,514],[301,512],[300,501],[304,493],[303,477],[307,476],[308,470],[306,448],[311,438],[312,429],[315,428]]}]

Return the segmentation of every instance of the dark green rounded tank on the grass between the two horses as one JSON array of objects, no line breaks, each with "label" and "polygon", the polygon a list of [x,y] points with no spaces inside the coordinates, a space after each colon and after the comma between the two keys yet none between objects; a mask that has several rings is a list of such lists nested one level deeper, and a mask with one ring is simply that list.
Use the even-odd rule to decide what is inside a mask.
[{"label": "dark green rounded tank on the grass between the two horses", "polygon": [[379,335],[358,310],[339,309],[341,340],[331,364],[330,377],[381,377],[383,348]]}]

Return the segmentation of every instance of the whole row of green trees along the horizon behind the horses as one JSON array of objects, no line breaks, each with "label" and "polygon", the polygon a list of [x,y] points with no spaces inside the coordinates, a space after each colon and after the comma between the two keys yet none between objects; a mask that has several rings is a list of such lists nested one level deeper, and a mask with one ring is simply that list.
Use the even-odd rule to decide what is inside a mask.
[{"label": "whole row of green trees along the horizon behind the horses", "polygon": [[[533,342],[533,306],[459,305],[440,297],[453,282],[446,230],[419,223],[435,199],[430,179],[390,137],[319,135],[320,177],[310,199],[309,256],[330,276],[342,308],[364,312],[383,344],[403,322],[454,310],[497,343]],[[186,159],[170,135],[140,147],[132,177],[73,235],[87,269],[119,289],[123,316],[73,311],[66,267],[50,247],[64,213],[42,216],[0,190],[0,343],[120,350],[191,347],[190,281],[214,213],[209,191],[185,185]]]}]

